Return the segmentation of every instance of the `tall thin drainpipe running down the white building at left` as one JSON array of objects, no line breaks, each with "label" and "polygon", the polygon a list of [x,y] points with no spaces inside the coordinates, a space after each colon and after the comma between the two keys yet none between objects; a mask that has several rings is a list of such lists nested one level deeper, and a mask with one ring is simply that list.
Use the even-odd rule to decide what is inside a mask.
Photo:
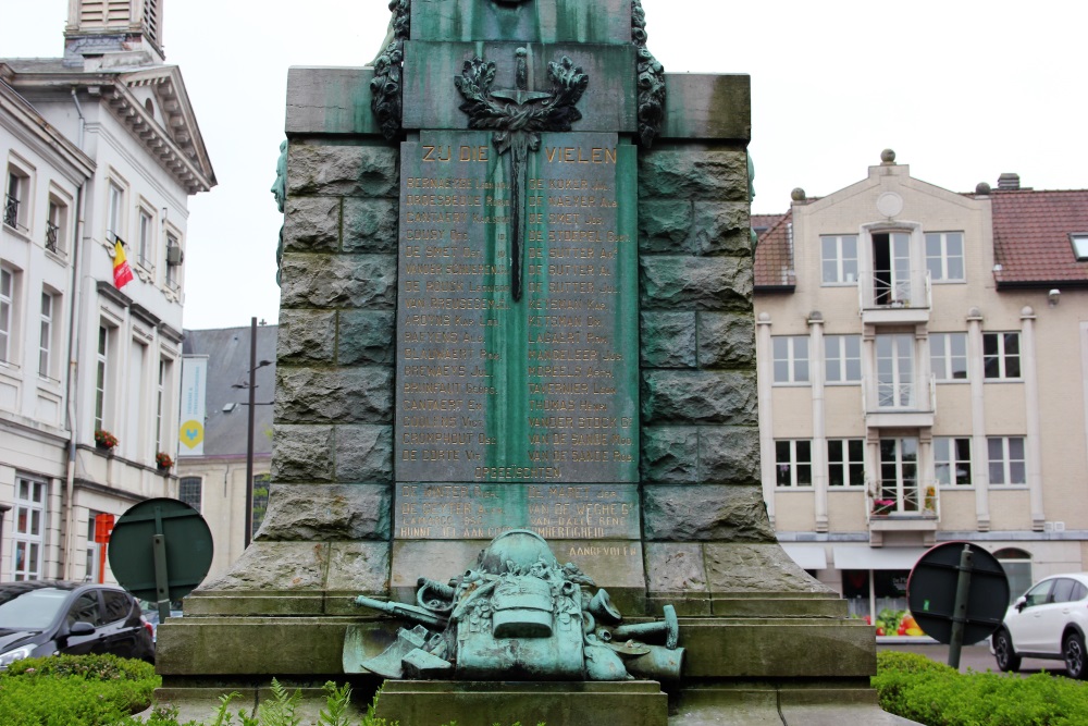
[{"label": "tall thin drainpipe running down the white building at left", "polygon": [[[86,120],[83,115],[83,108],[79,106],[79,99],[76,97],[75,88],[72,89],[72,100],[75,102],[76,113],[79,115],[79,135],[78,144],[79,150],[83,150],[83,130]],[[76,453],[76,442],[79,441],[78,434],[78,423],[79,418],[76,416],[76,381],[77,373],[79,371],[79,319],[77,313],[79,311],[79,295],[81,285],[83,276],[79,274],[79,250],[83,248],[83,232],[85,229],[86,221],[84,219],[85,207],[86,207],[86,196],[84,194],[87,187],[87,183],[84,182],[79,185],[79,189],[76,193],[76,223],[75,223],[75,238],[72,241],[72,294],[69,300],[69,365],[67,365],[67,381],[65,385],[65,398],[66,398],[66,416],[67,416],[67,430],[69,430],[69,442],[67,442],[67,460],[65,462],[66,469],[66,481],[64,487],[64,579],[73,580],[75,579],[75,453]]]}]

